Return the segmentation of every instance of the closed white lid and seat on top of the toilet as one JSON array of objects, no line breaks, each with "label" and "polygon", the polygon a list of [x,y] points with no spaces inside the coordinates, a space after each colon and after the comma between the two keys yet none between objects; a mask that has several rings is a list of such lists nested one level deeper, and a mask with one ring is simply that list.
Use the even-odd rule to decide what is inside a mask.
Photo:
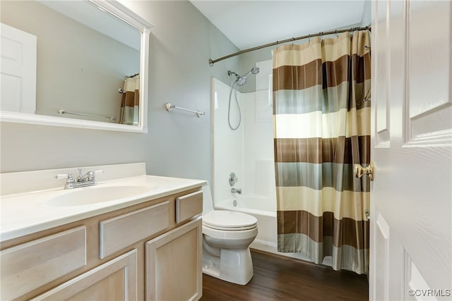
[{"label": "closed white lid and seat on top of the toilet", "polygon": [[257,219],[242,212],[214,210],[203,215],[203,224],[219,230],[248,230],[256,227]]}]

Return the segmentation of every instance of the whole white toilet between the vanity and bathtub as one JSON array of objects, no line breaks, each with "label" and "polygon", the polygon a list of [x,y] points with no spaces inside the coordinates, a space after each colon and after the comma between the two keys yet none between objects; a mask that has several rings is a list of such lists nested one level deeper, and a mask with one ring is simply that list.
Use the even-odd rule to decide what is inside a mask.
[{"label": "whole white toilet between the vanity and bathtub", "polygon": [[237,211],[214,210],[209,185],[203,186],[203,273],[245,285],[253,277],[249,245],[257,219]]}]

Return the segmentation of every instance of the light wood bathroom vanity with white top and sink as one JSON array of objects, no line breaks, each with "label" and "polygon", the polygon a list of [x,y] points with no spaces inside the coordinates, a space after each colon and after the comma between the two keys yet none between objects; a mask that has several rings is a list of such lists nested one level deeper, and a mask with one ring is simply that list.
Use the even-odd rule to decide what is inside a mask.
[{"label": "light wood bathroom vanity with white top and sink", "polygon": [[87,166],[1,174],[1,300],[198,300],[204,180]]}]

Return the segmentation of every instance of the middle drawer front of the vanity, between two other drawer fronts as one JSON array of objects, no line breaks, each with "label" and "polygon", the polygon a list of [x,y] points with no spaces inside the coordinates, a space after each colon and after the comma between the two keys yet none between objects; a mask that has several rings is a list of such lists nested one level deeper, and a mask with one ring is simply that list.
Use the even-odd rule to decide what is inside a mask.
[{"label": "middle drawer front of the vanity, between two other drawer fronts", "polygon": [[129,212],[100,222],[100,259],[169,226],[169,202]]}]

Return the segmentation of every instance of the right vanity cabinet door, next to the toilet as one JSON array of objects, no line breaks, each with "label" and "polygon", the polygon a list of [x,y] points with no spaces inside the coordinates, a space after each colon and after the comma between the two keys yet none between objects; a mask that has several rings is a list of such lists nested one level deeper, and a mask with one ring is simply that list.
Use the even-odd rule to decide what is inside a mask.
[{"label": "right vanity cabinet door, next to the toilet", "polygon": [[202,295],[201,217],[146,242],[146,300]]}]

